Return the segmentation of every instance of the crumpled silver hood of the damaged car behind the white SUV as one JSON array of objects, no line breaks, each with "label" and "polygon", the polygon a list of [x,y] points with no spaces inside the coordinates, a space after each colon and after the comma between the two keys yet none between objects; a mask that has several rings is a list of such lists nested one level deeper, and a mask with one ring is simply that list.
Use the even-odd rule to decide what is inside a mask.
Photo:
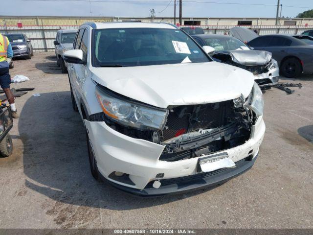
[{"label": "crumpled silver hood of the damaged car behind the white SUV", "polygon": [[265,50],[230,50],[232,61],[246,66],[265,65],[272,58],[272,53]]}]

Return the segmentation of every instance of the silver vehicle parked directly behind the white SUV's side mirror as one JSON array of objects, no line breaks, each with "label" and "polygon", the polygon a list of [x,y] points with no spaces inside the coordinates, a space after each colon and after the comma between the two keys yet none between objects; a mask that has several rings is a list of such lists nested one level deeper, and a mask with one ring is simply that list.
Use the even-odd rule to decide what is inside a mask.
[{"label": "silver vehicle parked directly behind the white SUV's side mirror", "polygon": [[53,42],[55,56],[57,57],[57,66],[61,68],[63,73],[67,72],[67,64],[63,60],[63,53],[73,48],[76,33],[76,29],[60,29]]}]

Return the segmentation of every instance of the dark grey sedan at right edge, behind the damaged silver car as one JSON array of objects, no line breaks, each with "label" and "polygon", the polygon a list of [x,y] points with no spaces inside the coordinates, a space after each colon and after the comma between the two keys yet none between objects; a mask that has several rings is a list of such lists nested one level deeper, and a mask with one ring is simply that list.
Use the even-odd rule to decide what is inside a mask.
[{"label": "dark grey sedan at right edge, behind the damaged silver car", "polygon": [[298,77],[302,72],[313,73],[313,47],[300,39],[279,34],[264,35],[247,45],[271,52],[285,77]]}]

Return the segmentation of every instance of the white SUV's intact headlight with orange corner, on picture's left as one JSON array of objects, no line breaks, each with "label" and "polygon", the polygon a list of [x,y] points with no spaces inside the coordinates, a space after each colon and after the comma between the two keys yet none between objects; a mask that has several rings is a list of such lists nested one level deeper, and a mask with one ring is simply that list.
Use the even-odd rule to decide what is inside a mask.
[{"label": "white SUV's intact headlight with orange corner, on picture's left", "polygon": [[96,87],[96,97],[106,116],[140,130],[163,129],[168,110],[123,100]]}]

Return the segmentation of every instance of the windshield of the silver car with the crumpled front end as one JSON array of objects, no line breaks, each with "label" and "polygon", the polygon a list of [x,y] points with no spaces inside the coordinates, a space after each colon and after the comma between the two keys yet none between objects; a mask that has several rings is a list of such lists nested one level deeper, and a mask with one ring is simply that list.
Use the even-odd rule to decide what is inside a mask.
[{"label": "windshield of the silver car with the crumpled front end", "polygon": [[237,38],[206,38],[206,46],[213,47],[216,51],[249,49],[246,44]]}]

